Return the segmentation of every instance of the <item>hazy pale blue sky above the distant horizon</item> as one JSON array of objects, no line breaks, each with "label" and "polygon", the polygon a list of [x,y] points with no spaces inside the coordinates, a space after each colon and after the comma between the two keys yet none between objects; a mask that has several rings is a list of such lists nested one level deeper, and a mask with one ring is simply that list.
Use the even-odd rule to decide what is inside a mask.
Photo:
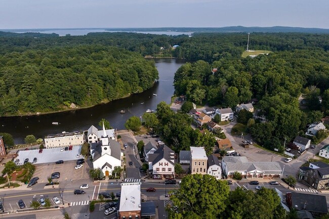
[{"label": "hazy pale blue sky above the distant horizon", "polygon": [[0,0],[0,29],[329,28],[329,0]]}]

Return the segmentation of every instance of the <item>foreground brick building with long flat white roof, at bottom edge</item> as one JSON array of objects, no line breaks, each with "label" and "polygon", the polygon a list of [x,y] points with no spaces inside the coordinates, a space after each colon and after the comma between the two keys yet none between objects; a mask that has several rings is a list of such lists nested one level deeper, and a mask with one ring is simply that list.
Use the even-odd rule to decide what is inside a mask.
[{"label": "foreground brick building with long flat white roof, at bottom edge", "polygon": [[141,219],[141,184],[140,179],[125,179],[121,183],[121,196],[117,209],[119,219]]}]

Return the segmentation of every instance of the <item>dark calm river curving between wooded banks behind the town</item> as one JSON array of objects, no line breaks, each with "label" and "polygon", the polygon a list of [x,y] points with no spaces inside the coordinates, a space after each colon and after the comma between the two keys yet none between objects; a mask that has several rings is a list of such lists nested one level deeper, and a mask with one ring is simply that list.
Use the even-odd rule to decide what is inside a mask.
[{"label": "dark calm river curving between wooded banks behind the town", "polygon": [[[141,116],[147,109],[156,109],[160,101],[171,102],[174,94],[174,74],[183,63],[185,63],[183,60],[155,59],[159,81],[151,89],[125,99],[88,109],[39,116],[0,117],[0,133],[10,133],[14,137],[15,144],[21,144],[24,143],[27,135],[44,138],[46,135],[63,131],[87,130],[91,125],[98,127],[98,122],[102,118],[110,121],[113,128],[124,129],[126,120],[131,116]],[[119,113],[122,109],[126,110],[125,114]],[[52,125],[54,121],[59,122],[59,125]]]}]

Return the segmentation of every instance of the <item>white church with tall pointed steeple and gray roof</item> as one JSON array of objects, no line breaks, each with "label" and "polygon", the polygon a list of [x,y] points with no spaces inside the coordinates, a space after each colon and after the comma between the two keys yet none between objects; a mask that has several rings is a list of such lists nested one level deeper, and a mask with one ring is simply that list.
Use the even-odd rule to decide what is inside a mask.
[{"label": "white church with tall pointed steeple and gray roof", "polygon": [[100,141],[90,144],[90,154],[94,169],[100,168],[104,176],[110,176],[115,166],[121,166],[121,146],[108,136],[104,123]]}]

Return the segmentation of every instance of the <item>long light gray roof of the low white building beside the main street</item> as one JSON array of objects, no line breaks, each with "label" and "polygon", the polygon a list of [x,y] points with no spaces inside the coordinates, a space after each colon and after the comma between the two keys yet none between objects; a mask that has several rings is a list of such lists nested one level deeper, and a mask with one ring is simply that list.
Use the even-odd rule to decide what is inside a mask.
[{"label": "long light gray roof of the low white building beside the main street", "polygon": [[228,171],[259,170],[266,174],[281,174],[282,168],[278,162],[249,162],[246,157],[223,157]]}]

